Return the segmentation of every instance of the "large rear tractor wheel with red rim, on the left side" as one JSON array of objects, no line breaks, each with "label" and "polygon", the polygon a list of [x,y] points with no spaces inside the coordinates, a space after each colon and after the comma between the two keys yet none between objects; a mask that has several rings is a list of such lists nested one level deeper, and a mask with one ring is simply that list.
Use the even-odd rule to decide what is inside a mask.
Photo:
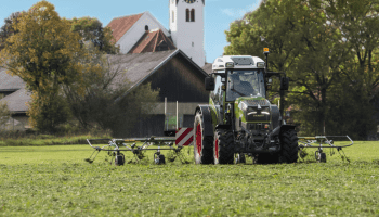
[{"label": "large rear tractor wheel with red rim, on the left side", "polygon": [[194,123],[195,164],[213,164],[213,137],[204,136],[204,120],[200,111],[196,112]]}]

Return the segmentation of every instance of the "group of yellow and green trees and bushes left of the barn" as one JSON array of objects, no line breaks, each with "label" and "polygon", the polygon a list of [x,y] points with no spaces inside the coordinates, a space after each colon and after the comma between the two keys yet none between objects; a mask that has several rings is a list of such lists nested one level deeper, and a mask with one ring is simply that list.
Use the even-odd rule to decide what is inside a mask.
[{"label": "group of yellow and green trees and bushes left of the barn", "polygon": [[62,18],[44,0],[5,18],[0,49],[0,67],[26,82],[29,122],[43,132],[73,120],[84,129],[132,127],[158,97],[147,84],[116,101],[130,82],[110,61],[119,53],[110,28],[97,18]]}]

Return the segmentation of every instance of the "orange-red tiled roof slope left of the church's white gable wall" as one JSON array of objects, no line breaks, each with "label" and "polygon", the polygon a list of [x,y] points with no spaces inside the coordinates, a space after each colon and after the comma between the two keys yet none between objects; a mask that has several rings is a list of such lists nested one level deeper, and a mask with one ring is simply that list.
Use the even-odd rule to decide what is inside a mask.
[{"label": "orange-red tiled roof slope left of the church's white gable wall", "polygon": [[143,15],[135,14],[130,16],[121,16],[110,21],[107,27],[110,27],[116,42],[134,25],[134,23]]}]

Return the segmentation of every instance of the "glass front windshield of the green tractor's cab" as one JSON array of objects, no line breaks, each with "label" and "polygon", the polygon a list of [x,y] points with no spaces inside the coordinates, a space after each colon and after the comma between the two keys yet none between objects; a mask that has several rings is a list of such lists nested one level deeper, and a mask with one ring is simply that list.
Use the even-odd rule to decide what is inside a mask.
[{"label": "glass front windshield of the green tractor's cab", "polygon": [[228,73],[226,86],[226,101],[234,101],[239,97],[265,98],[263,73],[258,69]]}]

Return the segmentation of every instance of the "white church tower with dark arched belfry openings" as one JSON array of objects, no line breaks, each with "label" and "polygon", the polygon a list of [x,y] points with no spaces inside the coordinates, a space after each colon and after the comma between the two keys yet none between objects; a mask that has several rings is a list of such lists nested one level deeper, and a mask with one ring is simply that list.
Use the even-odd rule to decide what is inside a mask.
[{"label": "white church tower with dark arched belfry openings", "polygon": [[170,30],[173,44],[198,66],[205,65],[205,0],[169,0]]}]

